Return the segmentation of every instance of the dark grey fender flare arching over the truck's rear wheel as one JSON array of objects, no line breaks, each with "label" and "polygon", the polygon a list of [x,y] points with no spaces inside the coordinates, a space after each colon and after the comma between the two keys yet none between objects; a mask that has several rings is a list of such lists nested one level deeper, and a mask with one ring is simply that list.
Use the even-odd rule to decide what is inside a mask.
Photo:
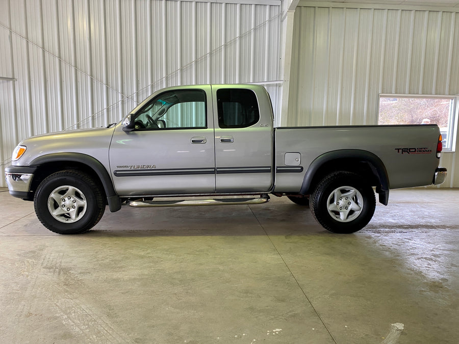
[{"label": "dark grey fender flare arching over the truck's rear wheel", "polygon": [[368,164],[373,174],[378,178],[378,181],[380,183],[380,187],[376,188],[376,192],[379,194],[379,202],[384,205],[387,205],[389,202],[390,188],[386,167],[376,154],[360,149],[334,150],[316,157],[303,177],[303,183],[301,186],[300,194],[305,195],[312,192],[312,190],[310,189],[313,178],[316,175],[317,171],[319,171],[320,168],[324,166],[324,164],[343,158],[358,159]]}]

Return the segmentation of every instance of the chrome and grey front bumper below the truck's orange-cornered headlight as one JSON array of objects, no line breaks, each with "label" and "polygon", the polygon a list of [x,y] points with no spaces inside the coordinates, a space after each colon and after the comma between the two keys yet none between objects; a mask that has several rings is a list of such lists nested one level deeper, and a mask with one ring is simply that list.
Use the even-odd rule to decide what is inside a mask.
[{"label": "chrome and grey front bumper below the truck's orange-cornered headlight", "polygon": [[25,200],[32,198],[31,184],[35,167],[9,166],[5,169],[5,179],[10,195]]}]

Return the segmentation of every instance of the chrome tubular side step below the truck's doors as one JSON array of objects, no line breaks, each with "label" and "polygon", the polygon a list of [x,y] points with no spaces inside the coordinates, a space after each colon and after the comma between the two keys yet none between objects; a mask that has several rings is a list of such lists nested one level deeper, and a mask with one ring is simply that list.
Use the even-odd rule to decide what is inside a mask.
[{"label": "chrome tubular side step below the truck's doors", "polygon": [[269,202],[269,195],[252,198],[214,198],[214,199],[182,199],[166,201],[131,201],[128,205],[136,208],[158,206],[193,206],[193,205],[236,205],[236,204],[263,204]]}]

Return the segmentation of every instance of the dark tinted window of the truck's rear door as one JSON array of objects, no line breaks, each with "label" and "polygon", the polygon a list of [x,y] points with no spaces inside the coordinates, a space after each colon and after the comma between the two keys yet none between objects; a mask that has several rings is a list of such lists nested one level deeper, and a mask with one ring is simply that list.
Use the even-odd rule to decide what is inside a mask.
[{"label": "dark tinted window of the truck's rear door", "polygon": [[260,120],[257,96],[247,89],[217,91],[220,128],[245,128]]}]

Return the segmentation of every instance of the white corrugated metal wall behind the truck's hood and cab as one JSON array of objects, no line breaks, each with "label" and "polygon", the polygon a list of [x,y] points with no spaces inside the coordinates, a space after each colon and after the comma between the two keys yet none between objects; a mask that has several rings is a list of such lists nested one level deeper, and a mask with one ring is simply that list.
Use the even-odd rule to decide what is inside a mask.
[{"label": "white corrugated metal wall behind the truck's hood and cab", "polygon": [[166,86],[268,82],[276,110],[280,5],[0,0],[1,175],[20,140],[117,122]]}]

